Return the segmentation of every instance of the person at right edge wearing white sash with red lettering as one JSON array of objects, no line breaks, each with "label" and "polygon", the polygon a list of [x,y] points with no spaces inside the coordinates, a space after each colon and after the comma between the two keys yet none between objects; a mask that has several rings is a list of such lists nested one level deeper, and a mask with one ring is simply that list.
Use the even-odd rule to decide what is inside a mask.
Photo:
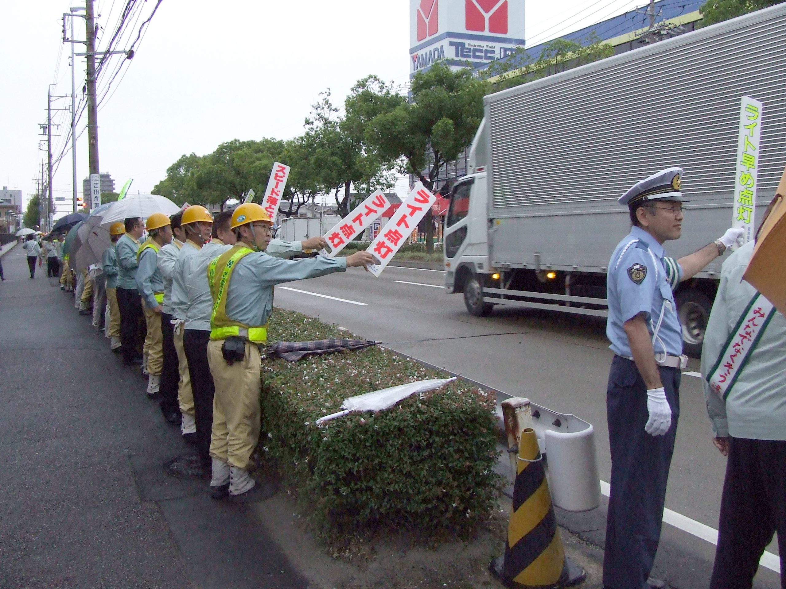
[{"label": "person at right edge wearing white sash with red lettering", "polygon": [[710,589],[752,587],[774,532],[786,587],[786,319],[743,280],[754,247],[723,263],[701,356],[713,444],[728,456]]}]

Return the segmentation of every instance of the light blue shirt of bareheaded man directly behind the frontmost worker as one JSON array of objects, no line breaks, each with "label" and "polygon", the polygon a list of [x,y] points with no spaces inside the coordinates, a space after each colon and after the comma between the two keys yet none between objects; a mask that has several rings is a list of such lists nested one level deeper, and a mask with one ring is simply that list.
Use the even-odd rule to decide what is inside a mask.
[{"label": "light blue shirt of bareheaded man directly behind the frontmost worker", "polygon": [[[205,243],[196,256],[183,262],[182,273],[186,284],[188,302],[185,305],[185,329],[210,331],[210,317],[213,313],[213,298],[208,284],[208,265],[217,256],[232,248],[221,240],[213,238]],[[274,258],[291,258],[303,251],[299,241],[270,240],[266,252]]]}]

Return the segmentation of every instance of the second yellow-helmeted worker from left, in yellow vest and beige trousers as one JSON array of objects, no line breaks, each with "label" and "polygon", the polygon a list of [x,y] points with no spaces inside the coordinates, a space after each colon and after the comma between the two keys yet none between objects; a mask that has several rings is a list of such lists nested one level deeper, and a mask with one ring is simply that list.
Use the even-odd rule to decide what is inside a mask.
[{"label": "second yellow-helmeted worker from left, in yellow vest and beige trousers", "polygon": [[137,254],[137,290],[141,295],[145,313],[147,337],[148,397],[158,394],[161,368],[163,366],[163,342],[161,335],[161,312],[163,311],[163,277],[158,269],[158,251],[172,240],[171,221],[163,213],[153,213],[145,223],[148,239],[139,247]]}]

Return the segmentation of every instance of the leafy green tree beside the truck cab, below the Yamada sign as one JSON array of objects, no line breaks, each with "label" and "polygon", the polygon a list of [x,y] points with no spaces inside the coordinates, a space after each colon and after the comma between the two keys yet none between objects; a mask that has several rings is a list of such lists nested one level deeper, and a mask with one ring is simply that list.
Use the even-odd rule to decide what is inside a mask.
[{"label": "leafy green tree beside the truck cab, below the Yamada sign", "polygon": [[[370,121],[366,141],[380,159],[401,159],[402,171],[414,174],[432,189],[443,166],[456,159],[475,137],[488,89],[487,82],[471,70],[453,71],[438,62],[415,75],[409,100],[394,100],[389,86],[378,89],[379,97],[374,100],[387,108]],[[426,250],[430,253],[434,251],[431,210],[425,220]]]}]

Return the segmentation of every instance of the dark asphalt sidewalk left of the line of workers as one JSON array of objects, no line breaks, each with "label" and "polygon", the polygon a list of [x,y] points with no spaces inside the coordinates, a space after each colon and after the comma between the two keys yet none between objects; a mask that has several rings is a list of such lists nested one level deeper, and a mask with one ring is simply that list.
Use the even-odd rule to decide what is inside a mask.
[{"label": "dark asphalt sidewalk left of the line of workers", "polygon": [[0,589],[307,587],[251,508],[165,472],[193,451],[73,296],[2,263]]}]

